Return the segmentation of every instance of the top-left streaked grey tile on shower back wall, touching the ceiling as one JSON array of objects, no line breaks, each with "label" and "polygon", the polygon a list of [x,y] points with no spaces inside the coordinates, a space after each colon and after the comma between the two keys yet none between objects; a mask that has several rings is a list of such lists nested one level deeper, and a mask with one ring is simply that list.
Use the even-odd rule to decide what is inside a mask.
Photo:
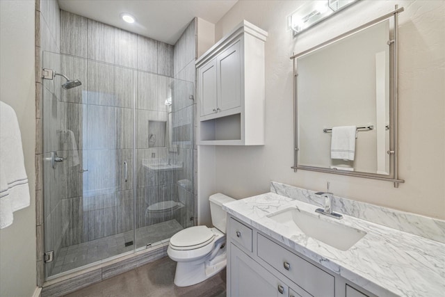
[{"label": "top-left streaked grey tile on shower back wall, touching the ceiling", "polygon": [[87,18],[60,11],[60,51],[87,58]]}]

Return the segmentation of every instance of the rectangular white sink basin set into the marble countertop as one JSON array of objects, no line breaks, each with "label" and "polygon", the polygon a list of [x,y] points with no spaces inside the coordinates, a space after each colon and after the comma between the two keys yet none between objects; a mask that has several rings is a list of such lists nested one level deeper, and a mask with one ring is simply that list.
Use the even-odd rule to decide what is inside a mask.
[{"label": "rectangular white sink basin set into the marble countertop", "polygon": [[366,232],[343,225],[334,218],[321,216],[323,215],[289,208],[270,214],[268,218],[286,225],[291,232],[295,230],[296,234],[304,233],[338,250],[348,250],[366,235]]}]

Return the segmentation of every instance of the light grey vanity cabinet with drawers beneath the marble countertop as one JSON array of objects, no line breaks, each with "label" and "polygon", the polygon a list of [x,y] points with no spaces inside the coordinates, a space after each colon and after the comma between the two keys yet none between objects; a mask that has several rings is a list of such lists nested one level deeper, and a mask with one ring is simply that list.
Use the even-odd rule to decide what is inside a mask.
[{"label": "light grey vanity cabinet with drawers beneath the marble countertop", "polygon": [[227,247],[231,297],[377,297],[229,215]]}]

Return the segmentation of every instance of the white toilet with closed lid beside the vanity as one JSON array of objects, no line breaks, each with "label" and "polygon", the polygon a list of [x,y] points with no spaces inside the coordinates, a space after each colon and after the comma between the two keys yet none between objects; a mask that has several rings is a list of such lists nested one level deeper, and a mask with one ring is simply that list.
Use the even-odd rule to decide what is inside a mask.
[{"label": "white toilet with closed lid beside the vanity", "polygon": [[209,201],[215,227],[188,227],[170,239],[167,253],[177,262],[175,284],[178,287],[207,280],[226,266],[226,213],[223,204],[234,199],[217,193],[211,195]]}]

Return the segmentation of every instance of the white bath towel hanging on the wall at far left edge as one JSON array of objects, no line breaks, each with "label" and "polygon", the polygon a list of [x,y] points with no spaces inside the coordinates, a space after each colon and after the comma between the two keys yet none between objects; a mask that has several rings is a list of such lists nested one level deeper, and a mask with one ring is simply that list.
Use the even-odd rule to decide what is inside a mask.
[{"label": "white bath towel hanging on the wall at far left edge", "polygon": [[[0,102],[0,171],[3,172],[2,179],[6,180],[8,187],[8,198],[4,197],[6,200],[3,202],[9,200],[12,211],[28,207],[29,185],[24,166],[19,122],[14,109],[4,102]],[[5,182],[1,183],[4,187]],[[4,217],[8,217],[10,215],[6,214],[8,203],[3,202],[1,206],[5,207]]]}]

